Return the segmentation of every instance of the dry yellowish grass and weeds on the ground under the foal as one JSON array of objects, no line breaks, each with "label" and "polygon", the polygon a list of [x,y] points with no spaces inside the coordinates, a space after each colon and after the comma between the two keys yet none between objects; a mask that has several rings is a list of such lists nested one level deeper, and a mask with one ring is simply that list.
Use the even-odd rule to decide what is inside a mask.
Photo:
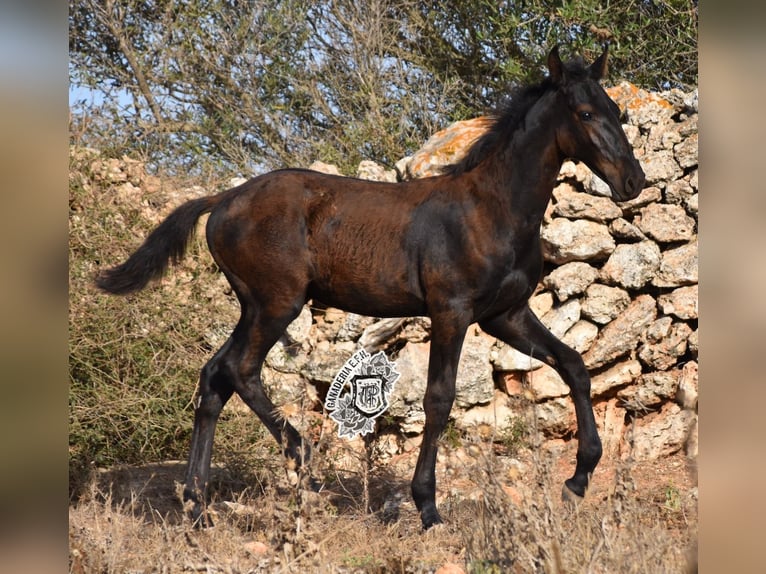
[{"label": "dry yellowish grass and weeds on the ground under the foal", "polygon": [[[440,458],[460,453],[463,465],[440,462],[446,524],[424,533],[409,497],[415,451],[382,465],[359,442],[323,442],[312,465],[325,479],[318,493],[291,486],[278,457],[247,475],[216,467],[216,525],[207,530],[182,512],[184,464],[96,474],[70,507],[70,571],[404,573],[450,563],[476,573],[692,571],[696,499],[670,484],[636,488],[637,465],[622,463],[611,484],[601,481],[573,508],[560,499],[548,451],[525,449],[527,471],[515,475],[518,459],[497,445],[444,445]],[[267,439],[257,445],[267,456]]]}]

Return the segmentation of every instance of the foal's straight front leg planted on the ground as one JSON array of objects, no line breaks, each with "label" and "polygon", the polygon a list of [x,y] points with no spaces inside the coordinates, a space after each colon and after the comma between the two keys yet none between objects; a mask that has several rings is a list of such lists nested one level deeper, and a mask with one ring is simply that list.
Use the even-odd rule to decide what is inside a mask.
[{"label": "foal's straight front leg planted on the ground", "polygon": [[446,324],[432,318],[431,323],[428,381],[423,399],[426,424],[411,485],[424,529],[442,522],[436,510],[436,453],[455,400],[455,378],[466,331],[466,327],[455,324],[454,318]]}]

